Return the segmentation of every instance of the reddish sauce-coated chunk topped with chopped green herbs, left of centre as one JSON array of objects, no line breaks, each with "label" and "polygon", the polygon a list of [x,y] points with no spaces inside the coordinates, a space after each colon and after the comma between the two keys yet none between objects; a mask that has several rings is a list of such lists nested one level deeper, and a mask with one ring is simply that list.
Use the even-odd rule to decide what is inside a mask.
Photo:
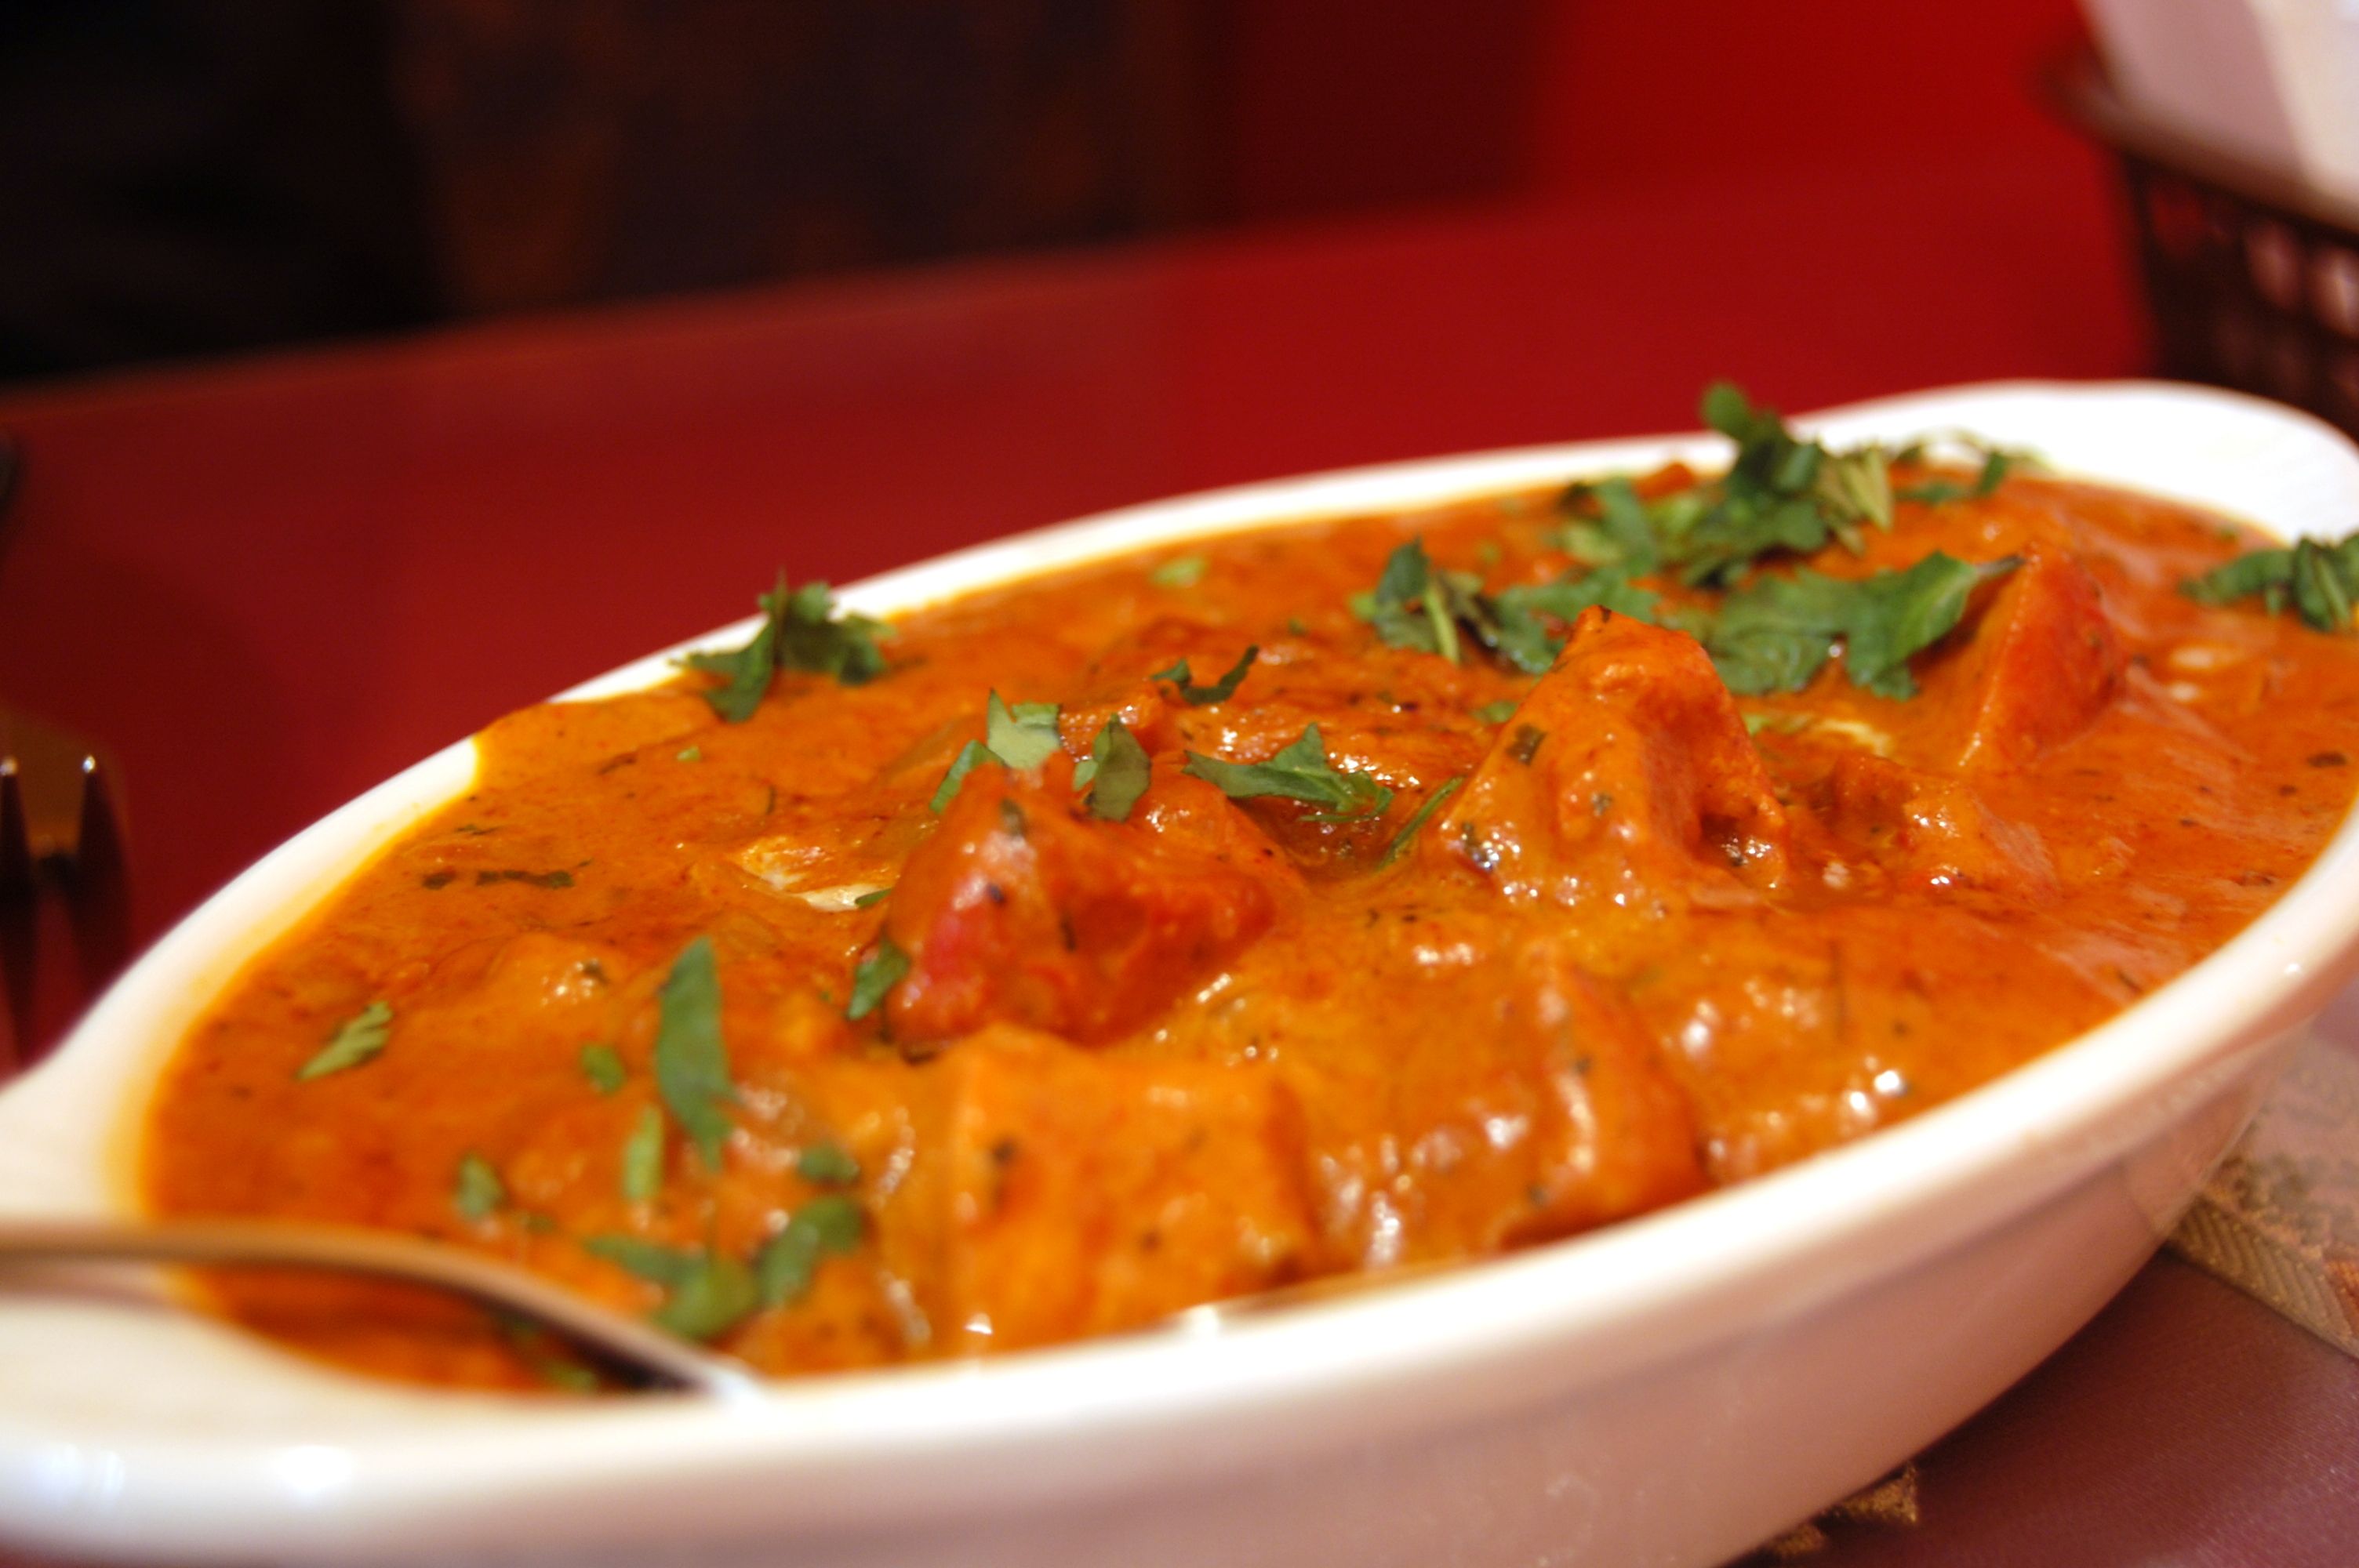
[{"label": "reddish sauce-coated chunk topped with chopped green herbs, left of centre", "polygon": [[1264,875],[1180,837],[1087,816],[1064,757],[970,773],[892,896],[894,1037],[1024,1023],[1102,1042],[1149,1019],[1274,915]]}]

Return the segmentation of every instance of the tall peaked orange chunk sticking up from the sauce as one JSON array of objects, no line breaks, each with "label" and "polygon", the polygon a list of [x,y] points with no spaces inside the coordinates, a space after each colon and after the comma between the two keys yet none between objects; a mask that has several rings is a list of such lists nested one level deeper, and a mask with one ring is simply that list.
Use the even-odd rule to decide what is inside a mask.
[{"label": "tall peaked orange chunk sticking up from the sauce", "polygon": [[1590,608],[1427,835],[1503,891],[1668,910],[1786,875],[1788,828],[1713,660]]}]

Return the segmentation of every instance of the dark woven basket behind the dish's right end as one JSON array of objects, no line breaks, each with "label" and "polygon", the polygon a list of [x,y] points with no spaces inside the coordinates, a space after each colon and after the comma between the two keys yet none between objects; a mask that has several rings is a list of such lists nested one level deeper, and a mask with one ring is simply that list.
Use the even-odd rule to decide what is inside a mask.
[{"label": "dark woven basket behind the dish's right end", "polygon": [[2359,205],[2142,118],[2085,50],[2043,87],[2121,163],[2163,375],[2359,436]]}]

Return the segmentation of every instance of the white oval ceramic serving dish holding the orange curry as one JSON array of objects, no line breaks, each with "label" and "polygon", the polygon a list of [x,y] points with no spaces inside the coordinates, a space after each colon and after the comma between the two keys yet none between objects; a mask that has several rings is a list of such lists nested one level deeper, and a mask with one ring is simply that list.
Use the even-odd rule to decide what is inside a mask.
[{"label": "white oval ceramic serving dish holding the orange curry", "polygon": [[[2281,535],[2359,519],[2359,450],[2166,384],[1996,384],[1805,420],[1972,429]],[[1135,545],[1717,462],[1562,446],[1132,507],[887,573],[889,613]],[[750,622],[748,622],[750,625]],[[745,627],[715,634],[743,637]],[[569,696],[663,679],[668,655]],[[0,1094],[0,1212],[130,1207],[160,1059],[373,846],[443,750],[160,941]],[[0,1292],[0,1537],[172,1561],[1713,1563],[1873,1481],[2151,1254],[2359,946],[2359,830],[2217,955],[1897,1129],[1585,1238],[1217,1335],[778,1384],[750,1405],[347,1377],[139,1292]]]}]

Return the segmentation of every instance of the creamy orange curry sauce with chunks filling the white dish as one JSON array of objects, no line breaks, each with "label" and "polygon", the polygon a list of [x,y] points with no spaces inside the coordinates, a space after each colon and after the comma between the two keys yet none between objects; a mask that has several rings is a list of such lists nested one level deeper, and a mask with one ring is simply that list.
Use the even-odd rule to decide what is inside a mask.
[{"label": "creamy orange curry sauce with chunks filling the white dish", "polygon": [[[1840,663],[1732,698],[1689,637],[1595,611],[1533,679],[1385,646],[1347,608],[1411,533],[1491,587],[1550,580],[1573,566],[1552,521],[1484,500],[972,594],[901,618],[882,679],[783,674],[748,724],[696,679],[512,714],[462,799],[189,1033],[146,1195],[436,1236],[651,1311],[665,1287],[585,1238],[753,1257],[837,1191],[859,1245],[727,1349],[802,1372],[1045,1344],[1576,1233],[1904,1120],[2220,946],[2350,804],[2359,641],[2180,597],[2255,542],[2220,519],[2043,479],[1901,505],[1866,556],[1812,564],[2024,561],[1913,660],[1911,700]],[[1175,556],[1201,580],[1158,585]],[[1229,700],[1151,679],[1187,658],[1213,681],[1248,644]],[[993,689],[1062,703],[1066,755],[981,766],[934,813]],[[1121,823],[1071,783],[1111,712],[1154,759]],[[1394,790],[1380,818],[1182,771],[1314,722]],[[854,1023],[880,934],[913,967]],[[665,1122],[661,1188],[625,1198],[656,993],[698,936],[731,1132],[710,1170]],[[375,1000],[382,1054],[300,1082]],[[594,1042],[618,1089],[585,1078]],[[814,1146],[856,1181],[797,1174]],[[469,1158],[502,1191],[479,1219],[453,1203]],[[337,1361],[533,1377],[443,1302],[217,1292]]]}]

